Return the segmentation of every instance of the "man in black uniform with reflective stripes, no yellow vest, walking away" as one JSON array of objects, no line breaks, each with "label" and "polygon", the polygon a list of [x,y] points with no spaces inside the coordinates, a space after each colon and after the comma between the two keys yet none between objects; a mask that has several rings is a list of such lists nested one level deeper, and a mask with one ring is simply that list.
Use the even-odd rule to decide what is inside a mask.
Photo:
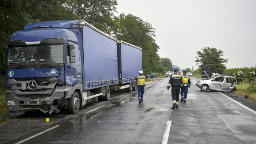
[{"label": "man in black uniform with reflective stripes, no yellow vest, walking away", "polygon": [[182,79],[181,76],[178,75],[178,70],[174,69],[174,74],[172,76],[170,76],[170,80],[167,86],[167,90],[169,91],[169,88],[172,87],[172,99],[173,99],[173,107],[171,109],[174,108],[178,108],[178,104],[179,104],[179,96],[180,96],[180,88],[182,86]]}]

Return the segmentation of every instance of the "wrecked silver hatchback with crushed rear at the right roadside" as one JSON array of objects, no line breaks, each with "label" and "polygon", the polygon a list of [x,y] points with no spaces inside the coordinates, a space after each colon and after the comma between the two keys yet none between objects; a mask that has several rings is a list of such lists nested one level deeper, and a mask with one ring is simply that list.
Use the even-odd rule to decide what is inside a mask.
[{"label": "wrecked silver hatchback with crushed rear at the right roadside", "polygon": [[200,80],[196,83],[196,87],[200,87],[202,91],[234,92],[236,91],[234,80],[234,77],[231,76],[216,76],[211,79]]}]

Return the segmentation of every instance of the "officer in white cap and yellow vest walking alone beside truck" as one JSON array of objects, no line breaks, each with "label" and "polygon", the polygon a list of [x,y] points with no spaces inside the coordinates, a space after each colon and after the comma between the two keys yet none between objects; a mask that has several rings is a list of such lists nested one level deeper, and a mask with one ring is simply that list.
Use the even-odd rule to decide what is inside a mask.
[{"label": "officer in white cap and yellow vest walking alone beside truck", "polygon": [[144,87],[146,85],[145,79],[146,79],[146,77],[143,76],[143,71],[139,71],[139,76],[136,77],[137,86],[138,86],[139,103],[143,102]]}]

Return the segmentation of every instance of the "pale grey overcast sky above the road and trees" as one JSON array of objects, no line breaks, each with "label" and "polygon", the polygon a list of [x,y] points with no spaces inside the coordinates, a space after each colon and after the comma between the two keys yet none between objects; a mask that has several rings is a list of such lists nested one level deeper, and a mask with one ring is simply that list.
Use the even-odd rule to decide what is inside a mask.
[{"label": "pale grey overcast sky above the road and trees", "polygon": [[256,66],[256,0],[117,0],[155,30],[161,58],[181,69],[198,68],[196,52],[222,50],[227,68]]}]

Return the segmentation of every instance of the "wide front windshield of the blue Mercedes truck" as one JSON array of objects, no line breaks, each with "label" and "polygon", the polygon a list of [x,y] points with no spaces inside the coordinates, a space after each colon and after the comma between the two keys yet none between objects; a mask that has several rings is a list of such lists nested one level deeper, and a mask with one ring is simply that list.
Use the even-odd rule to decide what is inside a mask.
[{"label": "wide front windshield of the blue Mercedes truck", "polygon": [[7,65],[60,64],[63,63],[63,53],[63,44],[9,47]]}]

